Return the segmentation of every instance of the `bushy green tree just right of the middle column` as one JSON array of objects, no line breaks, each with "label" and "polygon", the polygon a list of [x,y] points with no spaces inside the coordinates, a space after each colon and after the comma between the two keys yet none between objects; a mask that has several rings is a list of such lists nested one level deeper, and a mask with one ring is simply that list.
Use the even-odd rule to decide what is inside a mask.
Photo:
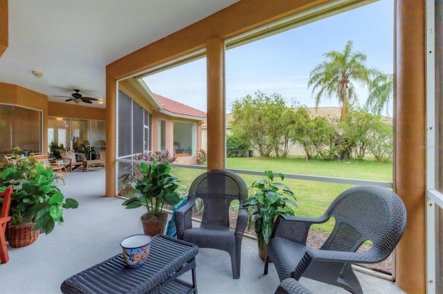
[{"label": "bushy green tree just right of the middle column", "polygon": [[284,146],[289,143],[291,113],[281,95],[267,95],[259,90],[253,96],[234,101],[231,112],[233,134],[250,141],[261,156],[285,155],[284,149],[289,149]]}]

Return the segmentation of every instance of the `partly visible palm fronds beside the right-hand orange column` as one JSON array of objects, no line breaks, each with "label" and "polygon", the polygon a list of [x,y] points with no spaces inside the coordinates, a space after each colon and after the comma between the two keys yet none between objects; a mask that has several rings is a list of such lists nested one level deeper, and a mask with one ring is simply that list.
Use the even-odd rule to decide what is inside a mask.
[{"label": "partly visible palm fronds beside the right-hand orange column", "polygon": [[[394,75],[376,72],[374,78],[368,84],[369,96],[366,100],[365,109],[381,115],[385,106],[389,106],[392,92],[394,91]],[[389,115],[388,110],[386,113]]]}]

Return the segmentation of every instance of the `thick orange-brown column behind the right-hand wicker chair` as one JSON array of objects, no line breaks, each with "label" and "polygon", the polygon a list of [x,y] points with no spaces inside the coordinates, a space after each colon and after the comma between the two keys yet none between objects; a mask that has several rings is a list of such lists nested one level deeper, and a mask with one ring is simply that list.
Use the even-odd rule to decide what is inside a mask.
[{"label": "thick orange-brown column behind the right-hand wicker chair", "polygon": [[396,283],[426,292],[425,1],[398,0],[395,12],[395,187],[408,213],[396,248]]}]

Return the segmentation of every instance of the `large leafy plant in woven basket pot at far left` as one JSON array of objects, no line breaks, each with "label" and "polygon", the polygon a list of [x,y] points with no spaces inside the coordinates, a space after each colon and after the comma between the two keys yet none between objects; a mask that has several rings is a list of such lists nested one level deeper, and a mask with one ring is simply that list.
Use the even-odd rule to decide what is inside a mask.
[{"label": "large leafy plant in woven basket pot at far left", "polygon": [[75,199],[64,199],[55,186],[56,175],[29,157],[15,157],[0,162],[0,189],[12,186],[8,224],[8,242],[12,247],[27,246],[35,242],[39,230],[49,234],[55,223],[62,224],[63,209],[77,208]]}]

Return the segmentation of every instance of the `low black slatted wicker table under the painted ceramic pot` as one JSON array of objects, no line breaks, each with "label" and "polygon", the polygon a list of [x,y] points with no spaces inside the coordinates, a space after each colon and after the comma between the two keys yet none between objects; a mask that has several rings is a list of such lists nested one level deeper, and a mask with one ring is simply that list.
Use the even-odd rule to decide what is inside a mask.
[{"label": "low black slatted wicker table under the painted ceramic pot", "polygon": [[[165,235],[152,238],[150,255],[140,268],[125,266],[122,254],[64,280],[62,293],[196,293],[197,245]],[[192,270],[192,284],[177,279]]]}]

